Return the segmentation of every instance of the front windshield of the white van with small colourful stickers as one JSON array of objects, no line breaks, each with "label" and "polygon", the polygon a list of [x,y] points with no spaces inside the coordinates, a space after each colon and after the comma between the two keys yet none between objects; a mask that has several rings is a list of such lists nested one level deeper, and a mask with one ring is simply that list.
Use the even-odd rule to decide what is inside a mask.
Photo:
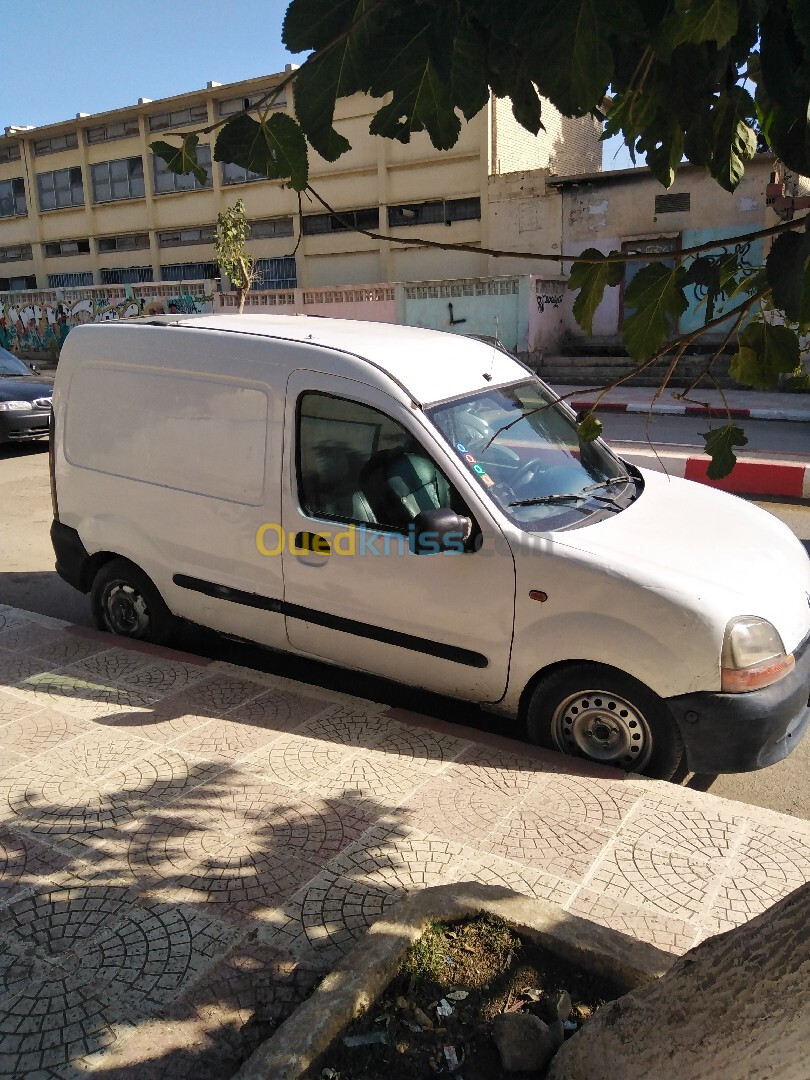
[{"label": "front windshield of the white van with small colourful stickers", "polygon": [[537,379],[426,413],[489,498],[523,529],[568,528],[617,513],[636,496],[626,467],[600,440],[583,442],[576,421]]}]

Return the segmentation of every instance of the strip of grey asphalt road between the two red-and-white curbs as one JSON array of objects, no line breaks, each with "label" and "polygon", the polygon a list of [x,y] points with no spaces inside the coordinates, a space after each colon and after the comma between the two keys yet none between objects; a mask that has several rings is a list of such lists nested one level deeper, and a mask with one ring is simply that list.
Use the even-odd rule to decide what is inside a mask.
[{"label": "strip of grey asphalt road between the two red-and-white curbs", "polygon": [[[721,428],[726,421],[693,416],[663,416],[653,413],[599,413],[605,438],[610,443],[676,444],[703,447],[701,432]],[[743,453],[781,451],[810,456],[810,424],[783,420],[734,420],[747,436]]]}]

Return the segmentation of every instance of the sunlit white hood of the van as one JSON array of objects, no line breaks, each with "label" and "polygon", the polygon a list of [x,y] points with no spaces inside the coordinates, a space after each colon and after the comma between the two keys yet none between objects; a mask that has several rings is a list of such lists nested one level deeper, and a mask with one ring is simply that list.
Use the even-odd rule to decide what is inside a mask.
[{"label": "sunlit white hood of the van", "polygon": [[640,472],[644,490],[630,507],[555,543],[726,620],[767,619],[795,649],[810,633],[810,558],[789,528],[737,496]]}]

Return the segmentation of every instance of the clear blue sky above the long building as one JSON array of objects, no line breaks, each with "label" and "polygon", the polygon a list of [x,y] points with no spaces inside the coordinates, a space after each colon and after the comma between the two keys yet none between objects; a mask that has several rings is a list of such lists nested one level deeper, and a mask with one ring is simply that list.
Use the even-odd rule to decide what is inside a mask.
[{"label": "clear blue sky above the long building", "polygon": [[[301,63],[287,0],[0,0],[0,130],[171,97]],[[605,144],[605,168],[626,168]]]}]

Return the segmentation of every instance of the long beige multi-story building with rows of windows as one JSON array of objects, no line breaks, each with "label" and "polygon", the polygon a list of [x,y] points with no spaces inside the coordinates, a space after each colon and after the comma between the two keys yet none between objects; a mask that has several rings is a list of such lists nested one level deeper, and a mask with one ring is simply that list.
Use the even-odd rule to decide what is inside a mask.
[{"label": "long beige multi-story building with rows of windows", "polygon": [[[475,252],[374,240],[347,229],[311,195],[213,161],[216,131],[200,136],[207,172],[171,173],[149,149],[170,133],[208,129],[251,108],[283,73],[220,85],[111,112],[80,113],[43,127],[10,126],[0,137],[0,292],[200,281],[218,276],[217,214],[244,200],[258,288],[414,281],[487,273]],[[293,109],[293,87],[275,108]],[[599,168],[599,130],[544,103],[534,137],[509,102],[492,98],[436,153],[424,133],[403,145],[374,137],[379,103],[338,102],[336,126],[352,144],[337,162],[310,154],[311,184],[343,218],[407,241],[487,244],[489,177],[516,170],[556,174]],[[14,118],[23,120],[24,118]]]}]

